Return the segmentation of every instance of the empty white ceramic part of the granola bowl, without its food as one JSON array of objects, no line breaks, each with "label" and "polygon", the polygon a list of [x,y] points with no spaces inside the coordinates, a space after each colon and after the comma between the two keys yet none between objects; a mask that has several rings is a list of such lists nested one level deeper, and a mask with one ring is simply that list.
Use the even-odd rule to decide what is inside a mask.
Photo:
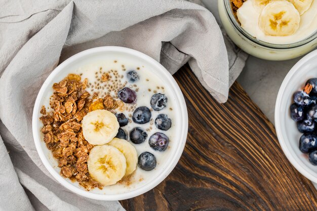
[{"label": "empty white ceramic part of the granola bowl, without its food", "polygon": [[[39,120],[39,117],[41,116],[39,111],[41,110],[45,99],[50,97],[52,94],[52,86],[54,82],[58,82],[63,79],[68,73],[71,73],[71,71],[78,68],[79,64],[86,64],[92,61],[94,58],[104,58],[113,54],[116,54],[119,57],[120,55],[129,56],[129,58],[133,58],[146,65],[146,67],[148,67],[147,69],[154,70],[154,74],[161,77],[161,79],[165,82],[165,88],[171,90],[170,98],[174,98],[171,100],[174,100],[174,121],[178,122],[178,124],[175,125],[177,127],[176,131],[178,133],[172,140],[174,142],[174,147],[171,147],[170,149],[169,162],[161,163],[159,168],[160,171],[153,173],[153,178],[151,180],[144,181],[143,183],[140,183],[141,185],[138,185],[135,189],[123,193],[117,193],[114,191],[101,192],[98,188],[95,188],[91,191],[86,191],[81,186],[79,186],[78,183],[72,183],[69,179],[65,179],[60,176],[60,168],[56,165],[57,161],[52,157],[52,152],[47,149],[43,141],[43,135],[41,133],[41,127],[43,124]],[[188,116],[185,100],[172,75],[159,62],[155,61],[151,57],[141,52],[122,47],[100,47],[89,49],[78,53],[61,63],[55,68],[55,70],[52,71],[52,73],[43,83],[41,90],[39,90],[32,117],[34,143],[39,157],[41,157],[47,170],[60,184],[72,192],[98,200],[123,200],[132,198],[149,191],[161,183],[171,173],[183,152],[187,137],[187,129]]]}]

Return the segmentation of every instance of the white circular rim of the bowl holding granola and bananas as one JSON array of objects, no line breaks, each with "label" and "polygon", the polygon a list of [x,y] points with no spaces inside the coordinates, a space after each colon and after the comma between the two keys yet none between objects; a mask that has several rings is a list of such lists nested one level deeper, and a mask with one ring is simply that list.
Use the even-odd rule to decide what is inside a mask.
[{"label": "white circular rim of the bowl holding granola and bananas", "polygon": [[[86,191],[83,190],[82,188],[76,187],[75,185],[69,183],[68,181],[66,181],[65,178],[63,178],[59,173],[57,173],[53,166],[50,164],[50,162],[48,161],[42,147],[41,147],[41,137],[39,137],[39,132],[38,132],[38,128],[39,128],[39,109],[41,109],[41,100],[44,97],[45,94],[45,89],[51,85],[52,80],[54,79],[55,76],[57,76],[65,67],[67,67],[68,64],[89,56],[91,54],[95,54],[95,53],[101,53],[101,52],[117,52],[117,53],[126,53],[126,54],[132,54],[134,56],[139,57],[140,59],[145,60],[146,62],[151,63],[151,65],[153,65],[155,67],[155,69],[157,69],[157,71],[160,71],[160,73],[162,73],[165,78],[167,78],[169,80],[169,83],[171,85],[171,87],[173,88],[173,90],[176,92],[176,100],[178,101],[179,105],[180,105],[180,114],[181,114],[181,136],[180,136],[180,140],[179,140],[179,144],[178,144],[178,149],[176,150],[176,153],[174,155],[172,155],[172,158],[170,160],[170,162],[168,163],[168,165],[165,167],[164,171],[155,179],[153,179],[151,182],[145,184],[144,186],[141,186],[140,188],[137,188],[135,190],[126,192],[126,193],[120,193],[120,194],[98,194],[98,193],[93,193],[90,191]],[[168,72],[168,70],[161,65],[159,62],[157,62],[156,60],[154,60],[153,58],[151,58],[150,56],[141,53],[139,51],[133,50],[133,49],[129,49],[129,48],[125,48],[125,47],[116,47],[116,46],[104,46],[104,47],[97,47],[97,48],[92,48],[92,49],[88,49],[85,51],[82,51],[80,53],[77,53],[71,57],[69,57],[68,59],[66,59],[65,61],[63,61],[61,64],[59,64],[51,73],[50,75],[46,78],[45,82],[43,83],[41,89],[39,90],[36,100],[35,100],[35,104],[33,107],[33,114],[32,114],[32,134],[33,134],[33,141],[36,147],[36,151],[39,155],[39,157],[41,158],[44,166],[47,168],[47,170],[49,171],[49,173],[61,184],[63,185],[65,188],[67,188],[68,190],[87,197],[87,198],[91,198],[91,199],[97,199],[97,200],[108,200],[108,201],[112,201],[112,200],[124,200],[124,199],[129,199],[129,198],[133,198],[136,197],[138,195],[141,195],[149,190],[151,190],[152,188],[154,188],[155,186],[159,185],[174,169],[174,167],[176,166],[176,164],[178,163],[181,154],[184,150],[185,147],[185,143],[186,143],[186,139],[187,139],[187,132],[188,132],[188,114],[187,114],[187,107],[186,107],[186,103],[185,103],[185,99],[184,96],[179,88],[179,86],[177,85],[177,82],[175,81],[175,79],[173,78],[173,76]]]}]

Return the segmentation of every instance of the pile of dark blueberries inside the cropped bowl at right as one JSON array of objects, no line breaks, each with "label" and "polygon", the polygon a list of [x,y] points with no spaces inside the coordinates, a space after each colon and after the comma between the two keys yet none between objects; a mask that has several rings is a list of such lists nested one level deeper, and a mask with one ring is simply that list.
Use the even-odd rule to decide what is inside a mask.
[{"label": "pile of dark blueberries inside the cropped bowl at right", "polygon": [[310,78],[303,91],[295,92],[290,107],[291,117],[297,122],[297,129],[303,135],[299,149],[309,153],[309,161],[317,165],[317,78]]}]

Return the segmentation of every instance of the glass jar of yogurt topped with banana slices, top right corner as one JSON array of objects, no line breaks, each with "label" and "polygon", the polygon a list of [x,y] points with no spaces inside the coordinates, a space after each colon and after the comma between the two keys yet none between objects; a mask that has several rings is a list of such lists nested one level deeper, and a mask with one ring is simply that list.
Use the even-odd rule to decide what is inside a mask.
[{"label": "glass jar of yogurt topped with banana slices, top right corner", "polygon": [[[240,8],[235,7],[233,2],[236,2]],[[281,2],[281,6],[273,5]],[[300,15],[290,2],[296,1],[218,0],[218,11],[227,35],[243,51],[265,60],[288,60],[302,56],[317,46],[317,16],[315,15],[317,1],[306,1],[311,3],[310,8],[307,11],[301,11]],[[291,6],[295,15],[290,16],[297,16],[299,21],[297,31],[291,35],[265,34],[259,27],[259,14],[263,13],[264,8],[269,10],[266,4],[272,4],[274,10],[276,8],[283,10]],[[273,21],[269,20],[271,11],[265,12],[262,15],[265,21],[268,23]],[[276,14],[280,12],[289,11],[278,11]],[[280,20],[277,20],[276,24],[279,22]]]}]

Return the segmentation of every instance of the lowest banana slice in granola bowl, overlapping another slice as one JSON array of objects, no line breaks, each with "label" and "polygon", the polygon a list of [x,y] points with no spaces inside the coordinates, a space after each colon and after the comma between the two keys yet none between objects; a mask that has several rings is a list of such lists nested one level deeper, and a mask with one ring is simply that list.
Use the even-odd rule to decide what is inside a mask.
[{"label": "lowest banana slice in granola bowl, overlapping another slice", "polygon": [[105,186],[120,181],[127,169],[124,154],[109,145],[94,146],[89,153],[87,164],[90,176]]}]

